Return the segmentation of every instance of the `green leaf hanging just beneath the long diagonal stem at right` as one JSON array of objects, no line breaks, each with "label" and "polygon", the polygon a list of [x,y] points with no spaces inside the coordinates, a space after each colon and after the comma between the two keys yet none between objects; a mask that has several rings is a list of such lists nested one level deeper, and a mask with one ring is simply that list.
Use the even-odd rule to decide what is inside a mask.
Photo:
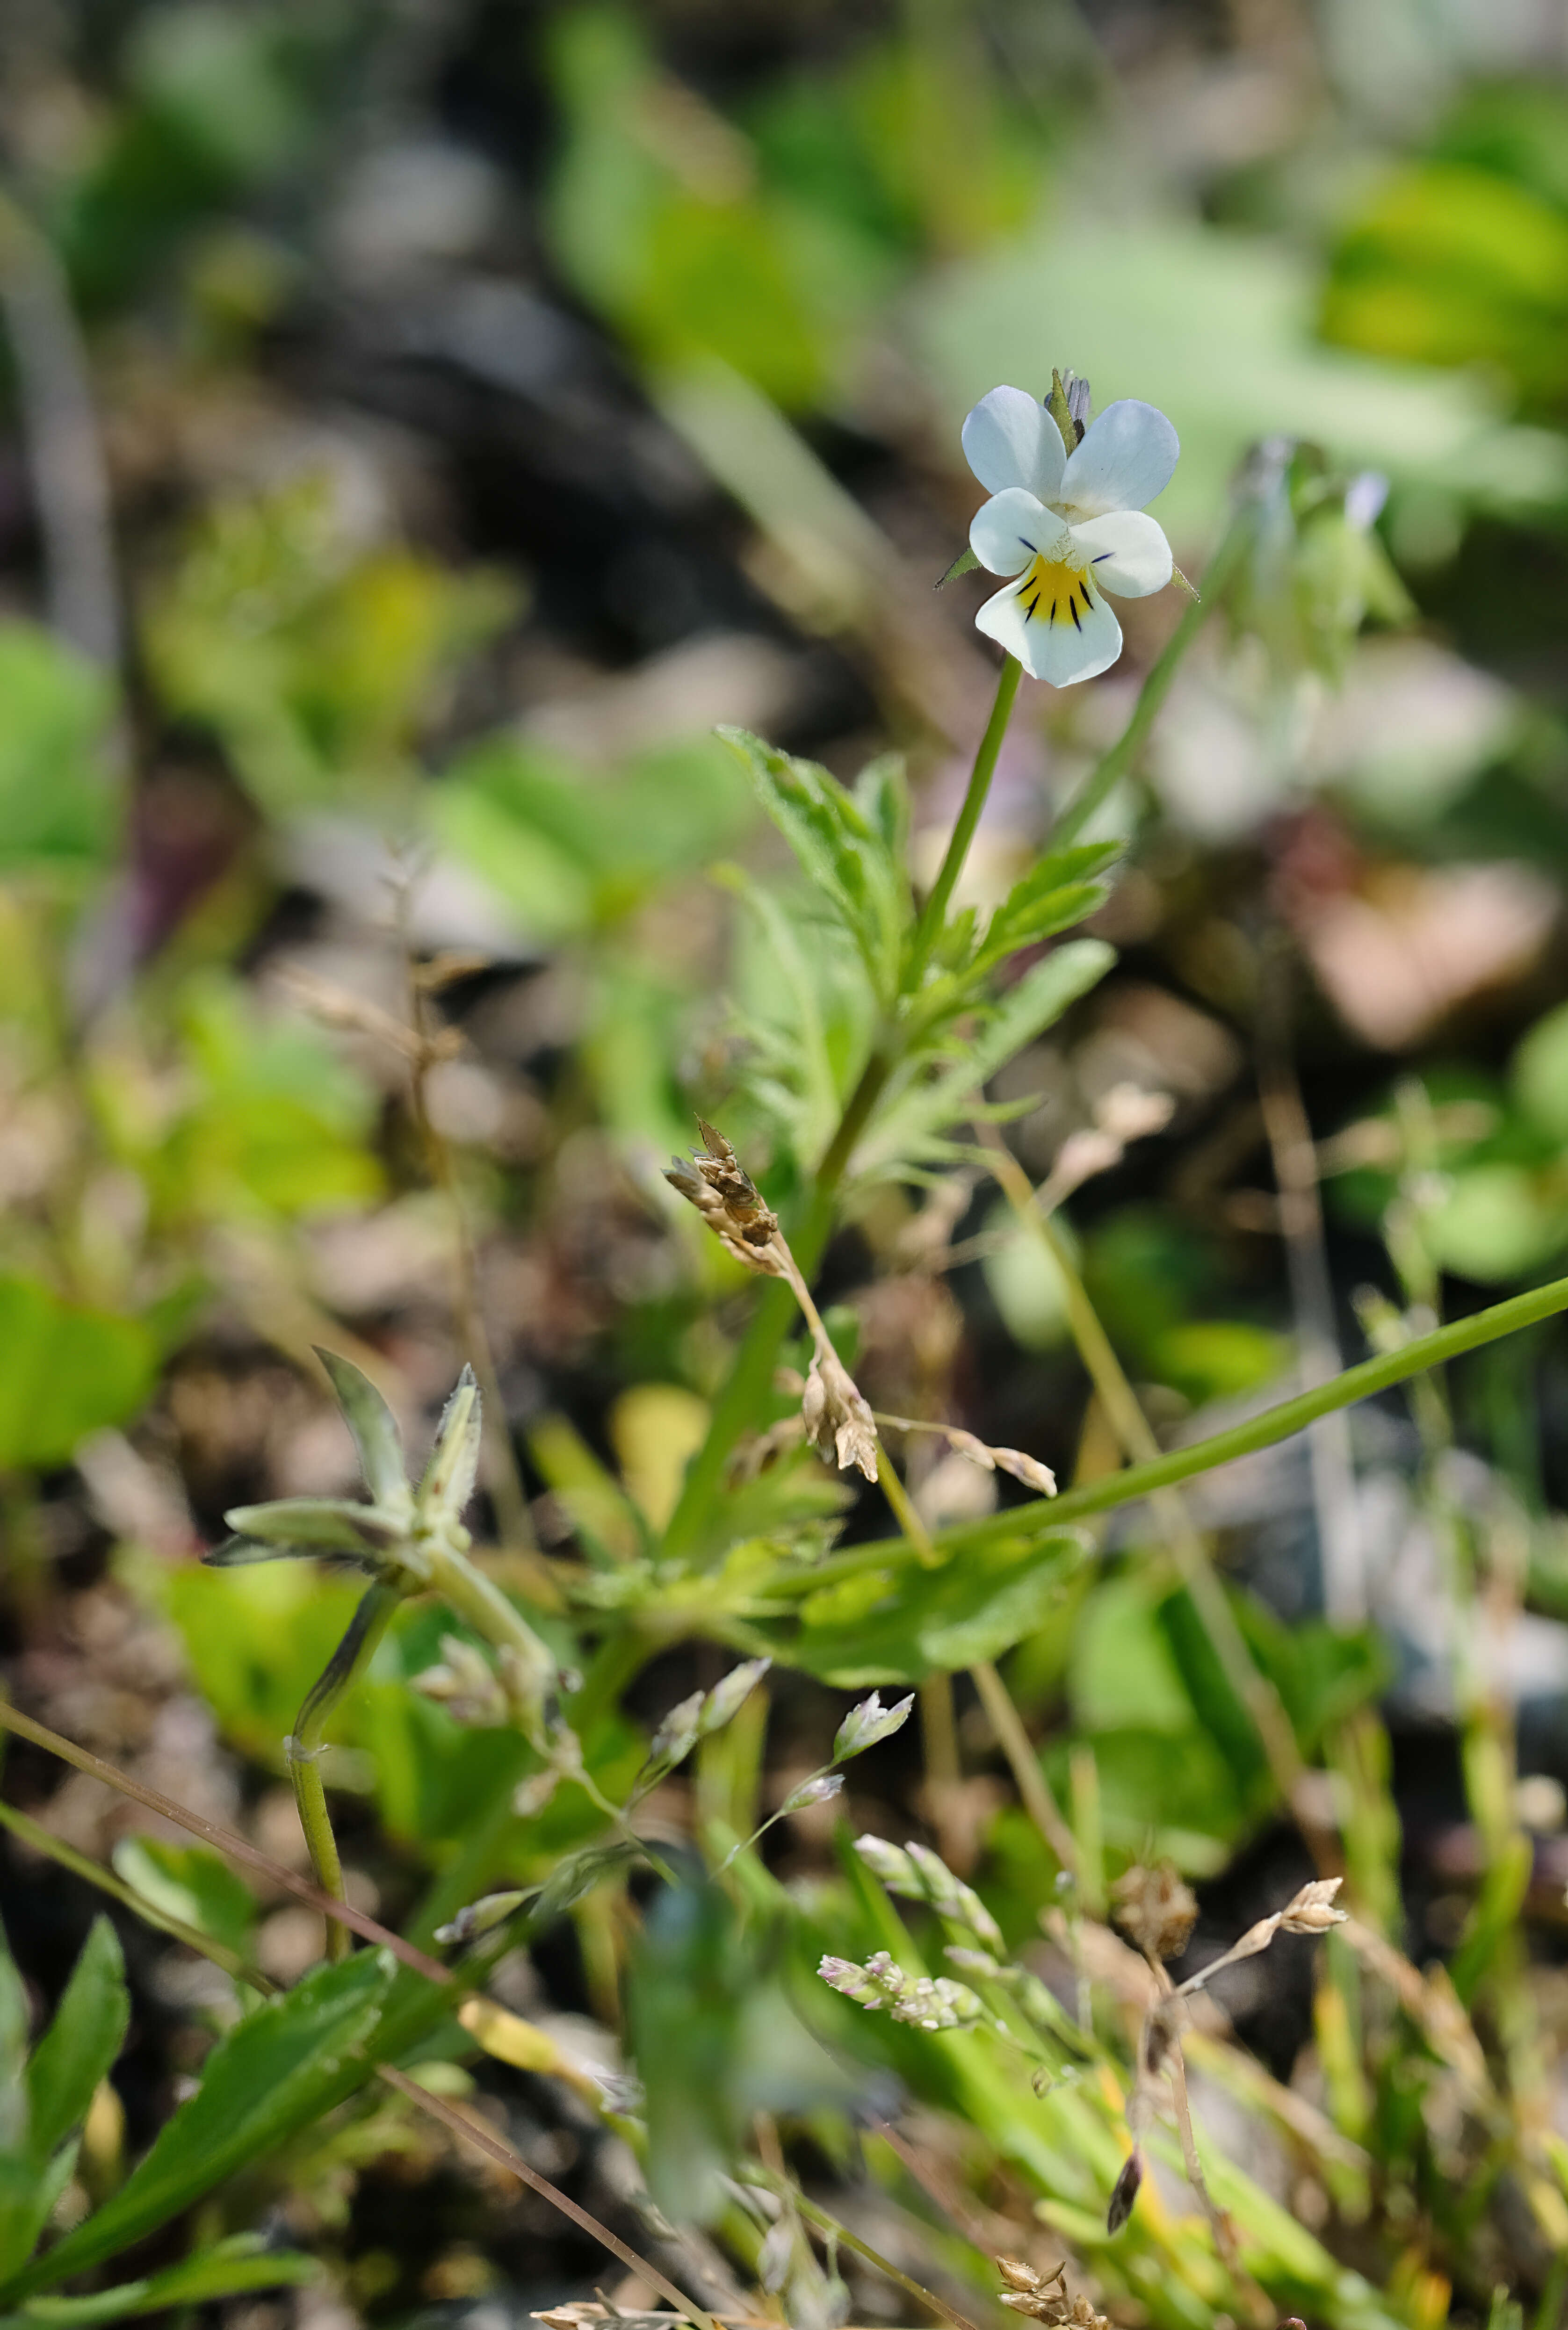
[{"label": "green leaf hanging just beneath the long diagonal stem at right", "polygon": [[776,1659],[834,1689],[923,1682],[1000,1659],[1034,1633],[1086,1559],[1086,1538],[1062,1528],[1032,1545],[1002,1540],[941,1568],[862,1570],[806,1596],[787,1633],[767,1624],[755,1631]]}]

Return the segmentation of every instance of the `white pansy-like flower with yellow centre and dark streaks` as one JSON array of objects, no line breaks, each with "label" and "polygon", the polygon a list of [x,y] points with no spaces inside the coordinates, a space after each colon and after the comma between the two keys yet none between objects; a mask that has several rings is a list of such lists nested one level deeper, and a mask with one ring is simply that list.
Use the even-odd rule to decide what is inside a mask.
[{"label": "white pansy-like flower with yellow centre and dark streaks", "polygon": [[1023,389],[993,389],[965,422],[965,457],[990,487],[969,548],[993,576],[1016,576],[974,622],[1037,680],[1069,687],[1107,671],[1121,624],[1104,592],[1146,599],[1170,582],[1170,543],[1144,508],[1179,450],[1165,415],[1137,398],[1107,405],[1074,452]]}]

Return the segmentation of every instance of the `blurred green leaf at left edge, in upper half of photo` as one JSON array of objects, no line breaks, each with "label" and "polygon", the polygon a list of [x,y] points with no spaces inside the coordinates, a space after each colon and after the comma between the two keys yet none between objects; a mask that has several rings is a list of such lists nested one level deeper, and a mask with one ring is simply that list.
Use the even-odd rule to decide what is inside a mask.
[{"label": "blurred green leaf at left edge, in upper half of photo", "polygon": [[0,624],[0,876],[103,871],[121,802],[100,671],[33,624]]}]

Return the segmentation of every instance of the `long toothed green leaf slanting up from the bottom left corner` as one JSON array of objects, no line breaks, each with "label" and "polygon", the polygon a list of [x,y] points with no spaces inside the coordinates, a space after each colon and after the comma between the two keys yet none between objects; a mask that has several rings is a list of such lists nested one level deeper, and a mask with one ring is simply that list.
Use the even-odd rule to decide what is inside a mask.
[{"label": "long toothed green leaf slanting up from the bottom left corner", "polygon": [[119,2193],[23,2276],[21,2293],[100,2265],[310,2125],[342,2092],[342,2057],[375,2029],[391,1976],[389,1950],[363,1950],[238,2022]]}]

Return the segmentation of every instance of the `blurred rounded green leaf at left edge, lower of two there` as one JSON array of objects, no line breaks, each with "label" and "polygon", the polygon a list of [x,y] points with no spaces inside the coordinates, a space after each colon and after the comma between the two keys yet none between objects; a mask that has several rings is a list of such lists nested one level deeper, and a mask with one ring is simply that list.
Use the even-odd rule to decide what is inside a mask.
[{"label": "blurred rounded green leaf at left edge, lower of two there", "polygon": [[156,1347],[137,1319],[0,1277],[0,1473],[70,1463],[89,1433],[128,1424],[154,1379]]}]

